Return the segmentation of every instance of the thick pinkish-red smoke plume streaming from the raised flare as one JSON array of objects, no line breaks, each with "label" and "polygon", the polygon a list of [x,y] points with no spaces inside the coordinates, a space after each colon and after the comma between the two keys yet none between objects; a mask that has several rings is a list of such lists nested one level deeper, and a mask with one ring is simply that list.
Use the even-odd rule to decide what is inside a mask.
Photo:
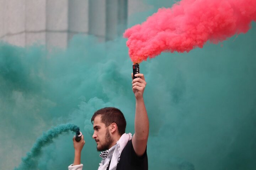
[{"label": "thick pinkish-red smoke plume streaming from the raised flare", "polygon": [[189,52],[210,40],[246,33],[256,21],[256,0],[182,0],[124,33],[134,63],[162,51]]}]

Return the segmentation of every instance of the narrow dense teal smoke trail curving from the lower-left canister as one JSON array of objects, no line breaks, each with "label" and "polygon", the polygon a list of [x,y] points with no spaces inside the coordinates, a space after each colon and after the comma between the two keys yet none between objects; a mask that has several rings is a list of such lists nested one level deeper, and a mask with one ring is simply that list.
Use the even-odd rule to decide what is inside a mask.
[{"label": "narrow dense teal smoke trail curving from the lower-left canister", "polygon": [[52,129],[48,130],[42,136],[37,138],[36,143],[32,147],[31,151],[27,153],[25,158],[22,158],[22,163],[15,168],[15,170],[30,170],[30,169],[37,169],[38,165],[38,157],[42,153],[42,147],[49,145],[53,142],[53,139],[58,137],[63,132],[67,131],[77,132],[79,131],[79,127],[74,124],[63,124]]}]

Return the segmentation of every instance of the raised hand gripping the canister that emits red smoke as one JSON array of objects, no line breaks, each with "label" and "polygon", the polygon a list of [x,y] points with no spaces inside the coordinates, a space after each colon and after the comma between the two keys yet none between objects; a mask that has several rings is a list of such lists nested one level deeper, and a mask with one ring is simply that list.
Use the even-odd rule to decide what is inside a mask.
[{"label": "raised hand gripping the canister that emits red smoke", "polygon": [[[143,98],[143,92],[146,87],[146,81],[143,74],[140,74],[140,73],[135,74],[135,77],[138,77],[138,78],[133,79],[132,89],[133,89],[135,98],[140,99],[140,98]],[[133,73],[132,73],[132,78],[133,78]]]}]

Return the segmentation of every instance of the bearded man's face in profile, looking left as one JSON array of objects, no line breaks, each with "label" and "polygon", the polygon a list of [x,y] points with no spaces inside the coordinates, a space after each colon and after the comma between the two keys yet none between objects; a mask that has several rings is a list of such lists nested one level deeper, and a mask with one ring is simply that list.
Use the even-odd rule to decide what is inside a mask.
[{"label": "bearded man's face in profile, looking left", "polygon": [[92,138],[94,138],[97,143],[97,151],[105,151],[109,149],[113,143],[113,138],[108,127],[102,123],[101,115],[94,118],[94,134],[92,135]]}]

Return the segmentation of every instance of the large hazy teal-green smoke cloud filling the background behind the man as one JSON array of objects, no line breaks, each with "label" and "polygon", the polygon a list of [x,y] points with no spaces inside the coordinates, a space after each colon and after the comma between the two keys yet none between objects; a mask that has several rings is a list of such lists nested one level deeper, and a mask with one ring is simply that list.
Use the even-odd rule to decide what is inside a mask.
[{"label": "large hazy teal-green smoke cloud filling the background behind the man", "polygon": [[[255,27],[219,45],[163,53],[140,64],[147,81],[150,170],[256,169]],[[134,133],[131,72],[123,38],[97,43],[93,36],[76,35],[66,50],[50,52],[2,42],[0,169],[20,165],[43,131],[63,123],[81,128],[81,161],[85,169],[97,169],[91,116],[117,107],[126,117],[126,132]],[[67,169],[74,159],[72,137],[63,134],[43,147],[37,169]]]}]

